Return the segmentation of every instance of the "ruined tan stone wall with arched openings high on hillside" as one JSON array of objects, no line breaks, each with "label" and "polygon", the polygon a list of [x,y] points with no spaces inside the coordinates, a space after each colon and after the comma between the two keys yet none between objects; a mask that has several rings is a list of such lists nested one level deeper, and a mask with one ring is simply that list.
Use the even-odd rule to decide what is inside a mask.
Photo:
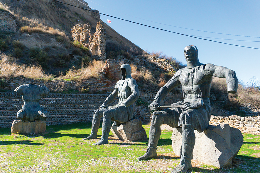
[{"label": "ruined tan stone wall with arched openings high on hillside", "polygon": [[96,32],[91,30],[90,23],[77,24],[71,31],[70,35],[74,41],[82,42],[85,47],[88,47],[92,56],[97,56],[98,59],[106,59],[106,31],[104,22],[97,23]]}]

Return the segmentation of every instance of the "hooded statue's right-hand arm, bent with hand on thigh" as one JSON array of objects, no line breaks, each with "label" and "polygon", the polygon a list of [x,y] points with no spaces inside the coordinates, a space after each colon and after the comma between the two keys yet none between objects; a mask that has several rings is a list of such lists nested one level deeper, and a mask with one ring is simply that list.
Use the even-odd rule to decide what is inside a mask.
[{"label": "hooded statue's right-hand arm, bent with hand on thigh", "polygon": [[132,105],[139,97],[138,85],[136,84],[136,81],[131,78],[128,80],[127,84],[130,87],[132,94],[129,95],[129,97],[124,102],[122,102],[125,107]]}]

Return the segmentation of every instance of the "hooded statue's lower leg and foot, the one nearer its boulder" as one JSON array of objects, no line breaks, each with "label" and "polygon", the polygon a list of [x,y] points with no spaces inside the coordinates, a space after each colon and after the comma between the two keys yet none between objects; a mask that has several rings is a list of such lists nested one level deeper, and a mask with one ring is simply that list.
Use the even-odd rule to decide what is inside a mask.
[{"label": "hooded statue's lower leg and foot, the one nearer its boulder", "polygon": [[92,145],[102,145],[102,144],[107,144],[108,143],[108,135],[111,129],[111,115],[109,110],[104,111],[104,116],[103,116],[103,123],[102,123],[102,135],[101,139],[93,143]]}]

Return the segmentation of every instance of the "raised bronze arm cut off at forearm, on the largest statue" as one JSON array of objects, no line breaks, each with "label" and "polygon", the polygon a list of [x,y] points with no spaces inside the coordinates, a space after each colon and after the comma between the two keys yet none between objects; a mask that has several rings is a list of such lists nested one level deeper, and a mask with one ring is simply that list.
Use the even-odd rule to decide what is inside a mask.
[{"label": "raised bronze arm cut off at forearm, on the largest statue", "polygon": [[212,65],[213,64],[210,64],[209,66],[211,66],[210,70],[212,70],[213,76],[218,77],[218,78],[226,78],[227,92],[233,93],[233,94],[237,93],[238,79],[236,76],[236,72],[234,72],[233,70],[230,70],[226,67],[214,66],[214,65],[212,67]]}]

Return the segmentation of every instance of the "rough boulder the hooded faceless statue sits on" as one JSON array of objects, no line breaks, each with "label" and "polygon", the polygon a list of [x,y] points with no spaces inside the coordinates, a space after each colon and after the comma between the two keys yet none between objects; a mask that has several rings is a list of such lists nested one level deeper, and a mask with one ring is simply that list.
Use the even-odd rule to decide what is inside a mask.
[{"label": "rough boulder the hooded faceless statue sits on", "polygon": [[143,129],[142,121],[139,119],[132,119],[120,126],[112,125],[111,131],[114,136],[124,141],[138,141],[146,140],[146,131]]}]

